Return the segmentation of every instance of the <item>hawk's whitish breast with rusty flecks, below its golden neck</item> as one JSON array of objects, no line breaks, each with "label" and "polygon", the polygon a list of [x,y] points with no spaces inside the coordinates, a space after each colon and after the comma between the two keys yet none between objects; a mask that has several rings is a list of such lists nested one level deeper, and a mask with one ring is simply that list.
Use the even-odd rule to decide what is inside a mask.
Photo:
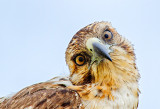
[{"label": "hawk's whitish breast with rusty flecks, below its golden neck", "polygon": [[91,93],[88,100],[83,97],[85,94],[80,94],[85,109],[137,109],[138,106],[138,96],[127,86],[113,90],[111,95],[105,97],[105,94],[100,94],[96,89],[92,89]]}]

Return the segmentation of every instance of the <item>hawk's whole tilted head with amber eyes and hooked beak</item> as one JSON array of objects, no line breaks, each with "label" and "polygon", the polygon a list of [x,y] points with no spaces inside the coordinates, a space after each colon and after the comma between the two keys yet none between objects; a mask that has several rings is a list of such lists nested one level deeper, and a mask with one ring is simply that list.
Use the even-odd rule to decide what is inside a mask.
[{"label": "hawk's whole tilted head with amber eyes and hooked beak", "polygon": [[66,62],[75,85],[117,88],[139,78],[131,43],[108,22],[95,22],[78,31],[67,48]]}]

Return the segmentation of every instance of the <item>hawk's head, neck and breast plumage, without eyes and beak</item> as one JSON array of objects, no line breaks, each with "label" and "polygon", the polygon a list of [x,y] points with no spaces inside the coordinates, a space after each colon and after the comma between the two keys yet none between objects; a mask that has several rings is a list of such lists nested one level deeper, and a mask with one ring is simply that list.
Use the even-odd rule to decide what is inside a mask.
[{"label": "hawk's head, neck and breast plumage, without eyes and beak", "polygon": [[[106,40],[108,36],[104,37],[105,31],[113,35],[113,38]],[[95,60],[92,63],[93,50],[88,49],[86,45],[91,38],[100,40],[100,44],[111,51],[109,55],[112,61],[100,57],[100,62]],[[79,54],[86,58],[82,66],[78,66],[73,60]],[[140,75],[135,64],[134,48],[110,23],[95,22],[79,30],[66,50],[66,63],[71,72],[70,80],[76,85],[70,88],[78,91],[86,108],[137,107],[139,95],[137,82]],[[130,95],[129,101],[126,94]],[[121,101],[128,102],[131,106],[124,105]],[[101,103],[105,104],[99,105]]]}]

